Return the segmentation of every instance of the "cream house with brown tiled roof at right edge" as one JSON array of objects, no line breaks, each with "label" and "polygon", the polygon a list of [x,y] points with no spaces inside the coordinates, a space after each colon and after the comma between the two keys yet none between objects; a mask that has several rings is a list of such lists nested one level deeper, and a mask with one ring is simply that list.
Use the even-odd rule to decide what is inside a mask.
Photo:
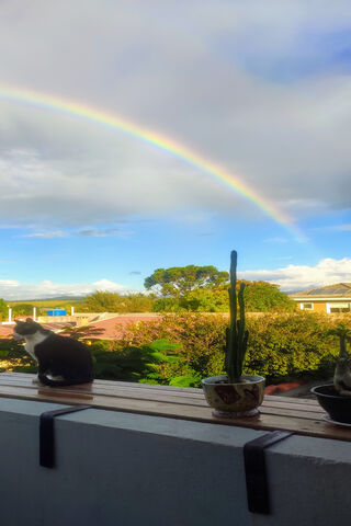
[{"label": "cream house with brown tiled roof at right edge", "polygon": [[291,294],[301,310],[314,312],[350,312],[351,283],[337,283],[326,287],[313,288]]}]

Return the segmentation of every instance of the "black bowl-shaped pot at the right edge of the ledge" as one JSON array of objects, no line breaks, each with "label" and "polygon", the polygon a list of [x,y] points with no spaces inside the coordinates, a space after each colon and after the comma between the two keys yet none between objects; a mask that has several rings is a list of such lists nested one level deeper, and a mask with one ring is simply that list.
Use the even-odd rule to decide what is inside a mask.
[{"label": "black bowl-shaped pot at the right edge of the ledge", "polygon": [[339,395],[333,384],[313,387],[310,389],[330,419],[343,424],[351,424],[351,396]]}]

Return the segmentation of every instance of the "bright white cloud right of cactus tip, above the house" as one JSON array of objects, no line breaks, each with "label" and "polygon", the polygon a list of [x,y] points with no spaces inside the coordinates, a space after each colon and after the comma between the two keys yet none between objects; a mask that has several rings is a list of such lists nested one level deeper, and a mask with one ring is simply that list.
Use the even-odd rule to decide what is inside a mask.
[{"label": "bright white cloud right of cactus tip, above the house", "polygon": [[274,271],[244,271],[238,276],[242,279],[275,283],[285,291],[307,290],[335,283],[351,283],[351,259],[328,258],[319,261],[316,266],[288,265]]}]

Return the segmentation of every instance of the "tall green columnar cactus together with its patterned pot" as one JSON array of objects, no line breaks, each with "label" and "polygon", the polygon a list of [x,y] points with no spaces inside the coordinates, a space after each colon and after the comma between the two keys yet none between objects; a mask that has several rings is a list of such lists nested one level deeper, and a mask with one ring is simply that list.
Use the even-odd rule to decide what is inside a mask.
[{"label": "tall green columnar cactus together with its patterned pot", "polygon": [[257,408],[263,401],[264,378],[242,374],[249,340],[245,323],[244,289],[245,284],[241,283],[237,295],[237,252],[234,250],[230,254],[230,324],[226,330],[226,375],[202,380],[206,401],[213,408],[215,416],[252,416],[258,414]]}]

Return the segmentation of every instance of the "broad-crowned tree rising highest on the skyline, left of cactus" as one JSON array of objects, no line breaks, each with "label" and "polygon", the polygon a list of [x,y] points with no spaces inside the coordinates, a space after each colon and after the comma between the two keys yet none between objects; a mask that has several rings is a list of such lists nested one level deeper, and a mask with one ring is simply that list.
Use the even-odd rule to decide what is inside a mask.
[{"label": "broad-crowned tree rising highest on the skyline, left of cactus", "polygon": [[147,290],[155,289],[161,296],[182,297],[191,290],[205,288],[212,290],[227,283],[229,274],[218,271],[215,266],[172,266],[157,268],[148,276],[144,286]]}]

